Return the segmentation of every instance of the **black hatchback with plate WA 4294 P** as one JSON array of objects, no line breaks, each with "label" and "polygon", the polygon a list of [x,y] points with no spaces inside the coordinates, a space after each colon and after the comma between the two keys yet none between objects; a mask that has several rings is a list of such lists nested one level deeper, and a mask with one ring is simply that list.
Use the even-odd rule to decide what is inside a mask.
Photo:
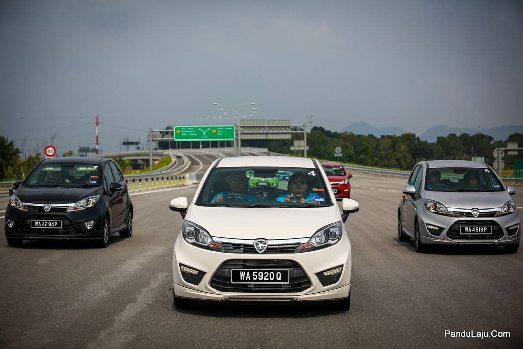
[{"label": "black hatchback with plate WA 4294 P", "polygon": [[10,246],[25,239],[70,239],[107,247],[110,234],[132,235],[131,198],[120,167],[111,159],[46,159],[13,189],[4,227]]}]

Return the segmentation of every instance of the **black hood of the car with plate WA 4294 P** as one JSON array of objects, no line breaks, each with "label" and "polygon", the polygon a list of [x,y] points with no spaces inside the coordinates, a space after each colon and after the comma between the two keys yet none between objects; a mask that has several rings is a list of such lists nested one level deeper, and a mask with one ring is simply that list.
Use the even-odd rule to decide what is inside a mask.
[{"label": "black hood of the car with plate WA 4294 P", "polygon": [[100,194],[100,187],[24,187],[13,193],[25,204],[75,204],[88,196]]}]

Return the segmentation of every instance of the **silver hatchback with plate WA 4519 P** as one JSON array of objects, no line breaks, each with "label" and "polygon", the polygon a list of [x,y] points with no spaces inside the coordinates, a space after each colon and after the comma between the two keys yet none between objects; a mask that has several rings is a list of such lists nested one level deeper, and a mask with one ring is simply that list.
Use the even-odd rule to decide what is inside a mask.
[{"label": "silver hatchback with plate WA 4519 P", "polygon": [[398,238],[426,245],[488,244],[515,253],[521,240],[516,190],[492,167],[474,161],[417,163],[403,188]]}]

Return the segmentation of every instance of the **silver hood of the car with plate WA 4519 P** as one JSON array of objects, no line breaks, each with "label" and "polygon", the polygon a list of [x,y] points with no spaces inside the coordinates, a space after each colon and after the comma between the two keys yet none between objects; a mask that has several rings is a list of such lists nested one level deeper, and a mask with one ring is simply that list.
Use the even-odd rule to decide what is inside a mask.
[{"label": "silver hood of the car with plate WA 4519 P", "polygon": [[503,207],[510,200],[507,192],[425,192],[425,198],[448,208],[488,209]]}]

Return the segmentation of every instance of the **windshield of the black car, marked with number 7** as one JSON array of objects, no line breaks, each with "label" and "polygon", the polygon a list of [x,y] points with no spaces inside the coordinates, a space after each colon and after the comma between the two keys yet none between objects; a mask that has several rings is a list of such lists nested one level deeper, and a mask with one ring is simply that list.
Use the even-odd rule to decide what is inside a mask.
[{"label": "windshield of the black car, marked with number 7", "polygon": [[97,165],[40,164],[25,180],[27,186],[83,187],[99,185]]}]

